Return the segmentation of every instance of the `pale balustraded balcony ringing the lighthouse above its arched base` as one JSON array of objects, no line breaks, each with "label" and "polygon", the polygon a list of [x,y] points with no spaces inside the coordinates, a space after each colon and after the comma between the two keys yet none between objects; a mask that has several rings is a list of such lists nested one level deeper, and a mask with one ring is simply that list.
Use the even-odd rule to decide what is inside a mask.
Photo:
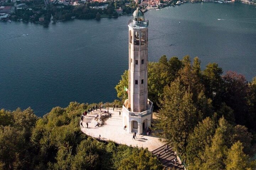
[{"label": "pale balustraded balcony ringing the lighthouse above its arched base", "polygon": [[[127,101],[128,99],[126,99],[126,102],[124,103],[128,103]],[[126,113],[128,114],[129,116],[135,116],[135,117],[144,117],[148,114],[151,114],[153,113],[153,102],[151,102],[149,99],[148,99],[148,104],[147,104],[147,110],[144,111],[144,112],[132,112],[130,111],[130,109],[128,108],[128,104],[126,104],[127,106],[123,105],[123,113]]]}]

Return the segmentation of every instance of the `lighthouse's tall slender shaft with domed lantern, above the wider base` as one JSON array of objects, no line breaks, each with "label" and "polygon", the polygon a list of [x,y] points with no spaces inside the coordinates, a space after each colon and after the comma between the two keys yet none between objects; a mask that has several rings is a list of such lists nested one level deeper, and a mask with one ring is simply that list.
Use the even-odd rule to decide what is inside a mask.
[{"label": "lighthouse's tall slender shaft with domed lantern, above the wider base", "polygon": [[148,104],[148,21],[137,9],[128,26],[129,106],[132,112],[143,112]]}]

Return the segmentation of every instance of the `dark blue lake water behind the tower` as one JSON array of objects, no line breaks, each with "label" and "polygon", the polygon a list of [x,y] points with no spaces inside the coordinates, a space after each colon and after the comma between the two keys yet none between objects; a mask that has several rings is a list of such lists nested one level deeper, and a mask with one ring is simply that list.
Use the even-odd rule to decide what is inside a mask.
[{"label": "dark blue lake water behind the tower", "polygon": [[[0,108],[32,107],[42,116],[71,101],[111,102],[128,69],[131,16],[72,20],[45,28],[0,23]],[[151,10],[149,61],[162,55],[198,56],[204,69],[216,62],[256,76],[256,8],[234,3],[194,3]],[[180,22],[180,24],[179,24]]]}]

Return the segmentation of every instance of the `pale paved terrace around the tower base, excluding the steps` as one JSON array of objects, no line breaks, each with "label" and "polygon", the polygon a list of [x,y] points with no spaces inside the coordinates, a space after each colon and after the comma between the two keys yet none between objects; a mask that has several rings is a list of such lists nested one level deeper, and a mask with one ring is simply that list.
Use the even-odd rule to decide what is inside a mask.
[{"label": "pale paved terrace around the tower base, excluding the steps", "polygon": [[[102,113],[107,111],[107,109],[102,109]],[[119,116],[119,111],[121,112],[121,116]],[[102,140],[111,140],[119,144],[128,145],[128,146],[138,146],[143,148],[148,148],[149,151],[153,151],[156,148],[164,145],[164,143],[159,141],[159,138],[146,136],[146,135],[136,135],[136,140],[133,140],[133,134],[128,133],[126,130],[123,130],[123,123],[122,123],[122,110],[114,110],[109,108],[109,112],[112,113],[111,118],[106,118],[104,121],[104,125],[100,127],[96,127],[97,121],[94,120],[94,117],[97,114],[100,114],[100,109],[98,111],[94,111],[90,114],[85,116],[82,125],[84,128],[81,127],[82,132],[86,135],[92,137],[99,137],[101,135]],[[86,122],[88,122],[89,126],[88,129],[86,128]]]}]

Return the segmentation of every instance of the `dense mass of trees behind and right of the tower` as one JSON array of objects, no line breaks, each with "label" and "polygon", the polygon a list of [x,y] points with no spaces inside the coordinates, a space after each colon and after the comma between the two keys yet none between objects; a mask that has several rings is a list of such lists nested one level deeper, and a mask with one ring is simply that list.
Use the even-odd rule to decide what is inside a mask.
[{"label": "dense mass of trees behind and right of the tower", "polygon": [[[148,98],[156,108],[154,130],[171,142],[189,169],[256,169],[256,77],[223,70],[190,56],[164,55],[148,63]],[[124,101],[128,71],[116,86]],[[254,159],[253,159],[254,158]]]}]

